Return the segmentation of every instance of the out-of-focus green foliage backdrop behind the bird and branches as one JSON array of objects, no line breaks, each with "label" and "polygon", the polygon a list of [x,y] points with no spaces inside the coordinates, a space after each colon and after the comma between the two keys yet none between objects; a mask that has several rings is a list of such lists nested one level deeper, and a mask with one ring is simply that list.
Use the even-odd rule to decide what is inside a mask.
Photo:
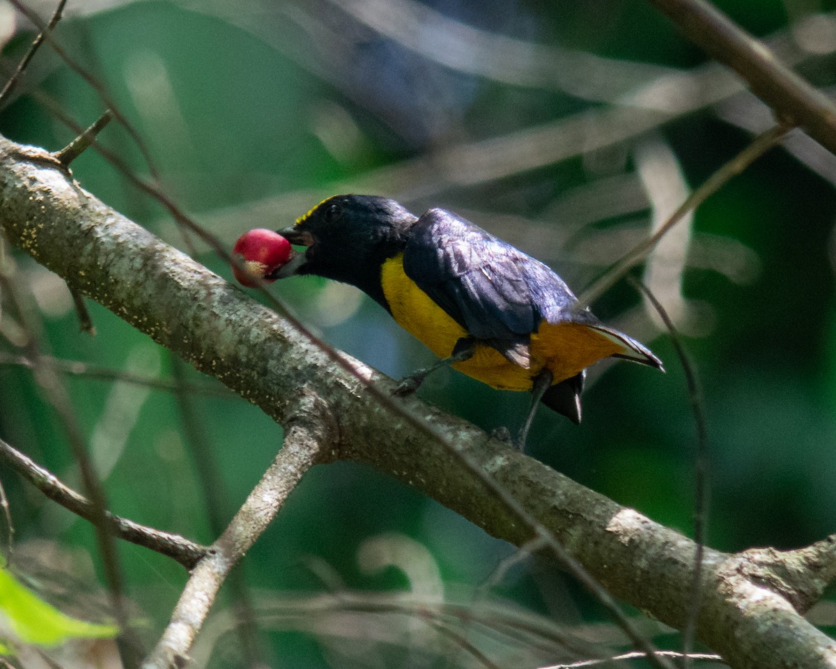
[{"label": "out-of-focus green foliage backdrop behind the bird and branches", "polygon": [[[817,85],[836,84],[836,23],[829,16],[811,18],[836,9],[831,0],[717,4],[752,33],[781,38],[782,48],[797,56],[793,64]],[[45,1],[29,5],[43,17],[52,11]],[[17,28],[6,45],[7,68],[33,35],[23,21]],[[476,41],[462,35],[476,35]],[[492,41],[497,36],[511,39]],[[770,123],[768,111],[742,85],[711,100],[710,86],[702,90],[696,74],[719,77],[722,69],[709,69],[703,54],[641,0],[78,0],[67,8],[56,37],[139,132],[163,189],[230,247],[249,227],[283,227],[324,196],[362,189],[398,198],[416,213],[429,206],[461,212],[552,264],[578,290],[646,234],[653,204],[649,166],[661,155],[659,147],[675,159],[675,169],[665,171],[669,186],[677,185],[678,171],[680,186],[693,188],[742,150],[754,128]],[[521,60],[519,54],[527,53]],[[507,74],[515,66],[518,73]],[[690,84],[686,79],[678,89],[682,99],[694,96],[685,111],[660,115],[640,132],[624,123],[607,125],[608,110],[620,110],[624,118],[645,113],[624,100],[675,73],[691,75]],[[701,94],[709,101],[701,102]],[[67,144],[74,133],[55,118],[45,97],[79,125],[104,110],[94,90],[44,48],[0,115],[0,132],[51,150]],[[150,178],[150,166],[124,129],[113,124],[101,140]],[[94,151],[73,169],[104,202],[166,241],[193,248],[159,204]],[[711,197],[696,212],[691,234],[673,248],[673,256],[686,260],[667,285],[672,291],[665,304],[682,311],[677,323],[704,394],[711,451],[708,540],[717,549],[789,548],[833,531],[834,182],[833,156],[811,143],[773,150]],[[196,253],[231,278],[205,248]],[[90,309],[98,334],[79,334],[63,284],[21,254],[13,253],[13,262],[13,280],[42,324],[44,352],[171,377],[165,351],[97,305]],[[329,344],[390,375],[431,357],[351,289],[293,278],[272,290]],[[530,452],[690,534],[695,426],[674,349],[624,284],[595,311],[651,345],[668,373],[622,363],[595,375],[584,397],[584,423],[570,425],[543,409]],[[6,303],[2,316],[0,353],[18,355],[15,314]],[[185,436],[171,393],[124,380],[67,377],[111,508],[210,542],[194,462],[211,456],[218,463],[229,517],[267,467],[282,433],[214,381],[193,372],[186,380],[204,391],[208,386],[193,399],[206,436],[199,445]],[[450,371],[428,380],[421,395],[487,430],[516,429],[528,404],[527,396],[492,391]],[[59,422],[31,372],[0,365],[0,397],[0,436],[78,485]],[[9,472],[3,472],[3,485],[18,541],[94,546],[86,523]],[[403,555],[393,563],[400,570],[364,569],[362,547],[385,533],[408,536],[428,550],[436,576],[411,573],[414,564]],[[242,571],[270,602],[286,593],[329,590],[327,564],[330,577],[353,589],[417,589],[440,579],[449,591],[471,589],[472,601],[515,600],[564,625],[599,615],[576,585],[560,582],[536,562],[509,569],[489,589],[493,595],[472,590],[512,553],[410,488],[339,463],[310,472]],[[130,596],[153,620],[153,638],[186,575],[132,545],[120,544],[120,556]],[[217,615],[227,605],[219,605]],[[370,656],[363,649],[372,646],[357,640],[360,651],[354,653],[313,623],[277,620],[263,620],[278,630],[266,637],[274,642],[272,650],[264,645],[268,661],[369,666],[375,663],[370,657],[379,657],[391,666],[432,663],[431,655]],[[218,625],[218,635],[232,638],[227,632],[234,623]],[[312,633],[331,641],[314,643]],[[394,637],[379,641],[398,645]],[[234,656],[219,650],[216,661],[235,665]],[[451,663],[458,661],[465,663]]]}]

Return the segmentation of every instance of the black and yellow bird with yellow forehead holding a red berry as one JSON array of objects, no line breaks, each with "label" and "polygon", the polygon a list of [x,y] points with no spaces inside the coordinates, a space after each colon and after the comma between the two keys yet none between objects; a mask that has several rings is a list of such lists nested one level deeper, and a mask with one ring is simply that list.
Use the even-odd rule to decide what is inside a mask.
[{"label": "black and yellow bird with yellow forehead holding a red berry", "polygon": [[579,304],[551,268],[456,213],[415,216],[387,197],[336,195],[278,231],[305,247],[266,278],[316,275],[368,294],[440,359],[401,381],[421,385],[442,365],[508,391],[530,391],[515,445],[539,403],[581,420],[586,369],[622,358],[664,371],[640,344]]}]

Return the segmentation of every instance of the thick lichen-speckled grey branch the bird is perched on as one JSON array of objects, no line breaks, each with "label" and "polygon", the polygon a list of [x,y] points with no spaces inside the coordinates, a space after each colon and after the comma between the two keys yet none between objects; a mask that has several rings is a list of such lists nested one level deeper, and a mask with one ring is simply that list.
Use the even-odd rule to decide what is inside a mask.
[{"label": "thick lichen-speckled grey branch the bird is perched on", "polygon": [[[329,457],[370,463],[513,544],[548,531],[611,593],[671,626],[686,623],[696,552],[690,539],[465,421],[414,397],[399,401],[435,434],[420,429],[370,390],[389,391],[390,380],[346,357],[356,374],[347,373],[286,320],[105,207],[37,150],[6,140],[0,228],[68,283],[275,420],[288,421],[298,388],[308,386],[337,416]],[[492,488],[473,466],[492,477]],[[521,523],[497,486],[540,527]],[[697,637],[735,667],[836,667],[836,644],[799,615],[833,575],[833,542],[767,558],[706,549]]]}]

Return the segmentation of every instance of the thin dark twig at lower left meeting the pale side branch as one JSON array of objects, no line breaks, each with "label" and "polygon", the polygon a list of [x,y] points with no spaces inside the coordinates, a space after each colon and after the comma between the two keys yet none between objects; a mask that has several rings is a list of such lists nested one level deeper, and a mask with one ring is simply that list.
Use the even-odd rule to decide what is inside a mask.
[{"label": "thin dark twig at lower left meeting the pale side branch", "polygon": [[[89,520],[91,523],[94,522],[94,507],[89,499],[69,488],[69,486],[59,481],[58,477],[55,477],[52,472],[40,467],[31,458],[4,442],[3,439],[0,439],[0,460],[12,467],[15,472],[18,472],[55,503],[59,503],[79,518]],[[197,561],[206,554],[206,546],[196,544],[179,534],[149,528],[127,518],[121,518],[109,511],[104,513],[104,518],[107,529],[111,534],[129,541],[131,544],[144,546],[146,549],[175,559],[186,569],[194,567]]]}]

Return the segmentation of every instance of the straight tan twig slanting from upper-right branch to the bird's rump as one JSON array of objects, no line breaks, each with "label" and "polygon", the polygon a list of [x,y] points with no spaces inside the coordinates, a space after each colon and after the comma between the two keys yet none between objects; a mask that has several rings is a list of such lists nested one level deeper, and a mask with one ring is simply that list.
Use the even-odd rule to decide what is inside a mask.
[{"label": "straight tan twig slanting from upper-right branch to the bird's rump", "polygon": [[699,207],[711,195],[717,192],[721,186],[724,186],[733,176],[737,176],[744,171],[752,162],[769,151],[772,146],[782,139],[791,128],[788,125],[775,125],[766,132],[752,140],[752,142],[743,151],[734,156],[731,161],[726,162],[711,176],[702,183],[684,202],[670,214],[668,220],[665,221],[659,229],[650,237],[645,239],[631,248],[630,251],[624,253],[622,258],[611,265],[603,274],[596,278],[589,288],[585,289],[579,295],[579,308],[583,308],[592,304],[596,299],[599,299],[607,290],[609,290],[620,278],[630,271],[635,264],[640,263],[643,258],[654,248],[656,243],[665,236],[665,233],[674,227],[676,223],[682,220],[682,217],[691,210]]}]

